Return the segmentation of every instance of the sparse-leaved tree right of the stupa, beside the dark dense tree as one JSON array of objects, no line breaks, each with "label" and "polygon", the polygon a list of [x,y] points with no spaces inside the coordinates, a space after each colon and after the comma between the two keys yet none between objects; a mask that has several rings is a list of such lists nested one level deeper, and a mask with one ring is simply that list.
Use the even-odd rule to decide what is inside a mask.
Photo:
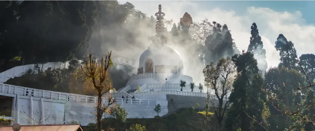
[{"label": "sparse-leaved tree right of the stupa, beside the dark dense tree", "polygon": [[[206,85],[209,85],[215,91],[215,95],[207,93],[207,101],[216,107],[215,117],[220,126],[222,125],[226,108],[230,104],[227,96],[232,91],[235,73],[236,69],[231,57],[221,58],[217,64],[211,62],[203,69]],[[226,101],[225,103],[224,100]]]}]

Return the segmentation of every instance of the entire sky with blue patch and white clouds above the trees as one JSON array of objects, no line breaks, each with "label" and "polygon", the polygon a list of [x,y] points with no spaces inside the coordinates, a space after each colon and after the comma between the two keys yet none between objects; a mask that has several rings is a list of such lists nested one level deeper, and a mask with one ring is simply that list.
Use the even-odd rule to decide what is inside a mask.
[{"label": "entire sky with blue patch and white clouds above the trees", "polygon": [[[274,43],[279,34],[295,44],[298,55],[315,53],[315,1],[119,1],[154,15],[162,5],[165,19],[175,23],[185,12],[194,22],[207,18],[226,24],[238,49],[247,50],[250,26],[255,22],[266,50],[268,67],[277,66],[279,52]],[[168,27],[170,30],[171,27]]]}]

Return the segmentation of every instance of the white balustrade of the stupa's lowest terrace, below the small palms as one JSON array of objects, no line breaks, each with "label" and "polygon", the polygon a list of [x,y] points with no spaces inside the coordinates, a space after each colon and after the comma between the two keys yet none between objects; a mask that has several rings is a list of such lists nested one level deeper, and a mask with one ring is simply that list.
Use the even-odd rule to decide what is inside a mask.
[{"label": "white balustrade of the stupa's lowest terrace, below the small palms", "polygon": [[157,90],[157,91],[146,91],[146,92],[133,92],[130,93],[133,96],[155,96],[155,95],[178,95],[178,96],[200,96],[207,97],[206,93],[203,92],[188,92],[188,91],[176,91],[176,90]]}]

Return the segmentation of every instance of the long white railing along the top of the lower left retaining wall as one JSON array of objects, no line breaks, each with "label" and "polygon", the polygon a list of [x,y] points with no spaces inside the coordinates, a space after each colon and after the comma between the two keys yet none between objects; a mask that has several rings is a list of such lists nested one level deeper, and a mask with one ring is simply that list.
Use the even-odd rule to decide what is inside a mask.
[{"label": "long white railing along the top of the lower left retaining wall", "polygon": [[[33,96],[33,97],[43,97],[49,99],[55,99],[60,101],[72,101],[72,102],[87,102],[87,103],[96,103],[98,98],[96,96],[84,96],[84,95],[77,95],[69,93],[61,93],[61,92],[53,92],[47,90],[37,90],[32,88],[14,86],[14,85],[7,85],[0,83],[0,92],[2,93],[9,93],[9,94],[17,94],[23,96]],[[157,100],[146,100],[146,99],[123,99],[117,96],[125,94],[129,95],[130,98],[132,97],[130,94],[126,92],[120,93],[108,93],[106,95],[113,95],[116,96],[116,103],[123,104],[123,105],[157,105]],[[108,103],[107,97],[102,97],[103,103]]]}]

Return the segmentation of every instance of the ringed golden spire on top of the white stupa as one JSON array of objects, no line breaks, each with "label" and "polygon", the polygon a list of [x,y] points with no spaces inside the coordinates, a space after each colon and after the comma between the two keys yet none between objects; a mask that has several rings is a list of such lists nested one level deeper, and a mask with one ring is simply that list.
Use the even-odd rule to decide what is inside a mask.
[{"label": "ringed golden spire on top of the white stupa", "polygon": [[157,17],[157,24],[155,25],[156,26],[155,32],[157,33],[157,35],[164,35],[165,27],[164,27],[163,19],[164,19],[165,13],[162,12],[161,4],[158,5],[158,12],[155,13],[155,16]]}]

